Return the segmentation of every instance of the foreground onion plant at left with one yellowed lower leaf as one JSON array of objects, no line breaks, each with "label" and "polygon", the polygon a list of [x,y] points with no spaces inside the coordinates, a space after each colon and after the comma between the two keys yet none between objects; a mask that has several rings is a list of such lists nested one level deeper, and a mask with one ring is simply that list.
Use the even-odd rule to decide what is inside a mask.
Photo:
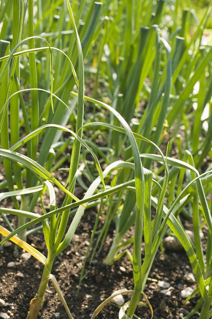
[{"label": "foreground onion plant at left with one yellowed lower leaf", "polygon": [[[31,7],[30,7],[31,6]],[[32,6],[33,3],[32,1],[29,2],[29,14],[30,14],[30,10],[32,10]],[[20,1],[19,2],[19,7],[17,8],[16,5],[14,5],[14,13],[19,12],[21,19],[19,23],[23,23],[23,2]],[[1,244],[3,244],[6,240],[11,239],[12,241],[14,241],[17,245],[19,245],[20,247],[22,247],[23,249],[25,249],[26,251],[28,251],[29,253],[31,253],[34,257],[36,257],[41,263],[44,264],[44,270],[43,270],[43,274],[42,274],[42,278],[41,278],[41,282],[39,285],[39,289],[37,294],[35,295],[35,297],[32,299],[31,304],[30,304],[30,310],[29,313],[27,315],[27,318],[37,318],[38,313],[39,313],[39,309],[46,291],[46,287],[48,285],[49,280],[53,280],[53,284],[55,286],[55,288],[57,289],[59,296],[67,310],[67,314],[69,318],[72,318],[72,315],[70,313],[70,311],[67,308],[67,304],[64,300],[64,298],[62,297],[60,288],[57,284],[56,279],[54,278],[54,276],[51,274],[51,269],[52,269],[52,265],[53,265],[53,261],[56,258],[56,256],[58,256],[60,254],[61,251],[63,251],[69,244],[71,241],[71,238],[76,230],[76,227],[79,224],[79,221],[81,219],[81,216],[86,208],[86,204],[89,200],[84,198],[84,201],[82,200],[82,202],[79,202],[78,198],[75,197],[73,195],[74,192],[74,187],[75,187],[75,180],[76,180],[76,176],[78,174],[77,168],[79,165],[79,157],[80,157],[80,150],[81,150],[81,144],[83,144],[85,147],[87,147],[87,149],[89,150],[89,152],[92,153],[92,155],[94,156],[96,165],[97,165],[97,170],[100,173],[100,179],[102,182],[102,186],[103,189],[105,189],[105,184],[104,184],[104,180],[103,180],[103,175],[102,175],[102,170],[101,167],[99,165],[98,159],[96,157],[96,155],[94,154],[94,152],[90,149],[90,147],[81,139],[82,136],[82,129],[81,126],[83,124],[83,110],[84,110],[84,66],[83,66],[83,56],[82,56],[82,48],[81,48],[81,43],[79,40],[79,35],[77,32],[77,28],[74,22],[74,16],[71,10],[71,6],[70,3],[67,1],[67,8],[68,8],[68,12],[70,14],[70,19],[73,25],[73,30],[74,30],[74,34],[75,34],[75,39],[76,39],[76,44],[77,44],[77,51],[78,51],[78,61],[79,61],[79,80],[76,77],[76,73],[73,67],[73,64],[71,63],[70,59],[69,62],[71,63],[71,67],[72,70],[74,72],[74,78],[76,80],[76,84],[78,85],[78,110],[77,110],[77,116],[76,116],[76,131],[77,134],[74,133],[73,131],[67,129],[64,126],[58,125],[58,124],[46,124],[43,126],[40,126],[38,128],[36,128],[35,130],[32,130],[29,132],[29,134],[27,134],[24,138],[20,139],[19,141],[16,141],[16,143],[14,143],[10,149],[6,149],[6,148],[2,148],[0,149],[0,154],[1,154],[1,162],[4,160],[4,162],[6,162],[6,164],[8,164],[10,167],[11,163],[15,163],[14,167],[17,167],[17,170],[19,171],[19,177],[23,177],[23,174],[25,174],[24,172],[26,170],[28,170],[30,176],[31,176],[31,184],[29,187],[28,183],[26,184],[26,188],[20,187],[20,189],[18,190],[11,190],[7,193],[2,193],[1,195],[1,200],[5,197],[11,197],[14,199],[14,204],[17,202],[16,201],[16,196],[19,195],[23,198],[25,198],[25,196],[29,196],[32,194],[37,194],[39,193],[39,196],[37,197],[41,197],[41,202],[42,202],[42,194],[45,192],[45,190],[47,190],[49,192],[49,197],[50,197],[50,212],[47,213],[45,208],[43,207],[43,215],[39,215],[39,214],[35,214],[32,213],[30,211],[27,210],[29,203],[23,207],[22,205],[19,207],[18,205],[15,205],[15,209],[8,209],[8,208],[2,208],[1,209],[1,214],[4,218],[4,220],[8,223],[8,225],[10,225],[9,220],[7,219],[5,213],[10,213],[13,215],[17,215],[18,217],[20,217],[19,221],[21,220],[21,223],[18,225],[18,229],[13,230],[11,229],[11,232],[9,232],[6,228],[4,228],[3,226],[0,227],[0,232],[1,234],[3,234],[4,236],[6,236],[5,240],[3,240],[1,242]],[[33,17],[33,15],[32,15]],[[29,28],[30,26],[32,27],[32,25],[30,25],[30,21],[29,21]],[[20,28],[20,32],[21,33],[21,28]],[[1,69],[1,76],[0,76],[0,83],[1,83],[1,93],[6,93],[5,96],[5,101],[4,104],[2,105],[1,108],[1,129],[5,129],[6,125],[8,125],[8,119],[7,119],[7,108],[8,108],[8,102],[9,100],[11,100],[12,97],[16,96],[18,93],[23,92],[23,90],[19,90],[19,92],[15,92],[13,94],[11,94],[11,86],[13,83],[13,79],[15,79],[15,69],[16,69],[16,62],[17,62],[17,57],[19,56],[19,53],[17,52],[17,49],[20,47],[21,44],[25,43],[26,41],[30,41],[33,40],[34,36],[32,35],[31,37],[29,37],[28,39],[25,39],[23,41],[21,41],[20,43],[18,43],[14,49],[12,50],[11,54],[9,54],[9,56],[4,56],[2,58],[2,69]],[[41,39],[41,38],[40,38]],[[18,35],[18,39],[17,42],[19,42],[20,40],[20,34]],[[9,49],[8,49],[8,45],[4,45],[4,42],[2,43],[3,47],[6,48],[4,53],[8,53]],[[32,46],[34,46],[34,44],[31,41]],[[48,43],[47,43],[48,44]],[[52,111],[54,111],[53,108],[53,100],[52,100],[52,96],[55,96],[52,93],[52,86],[53,86],[53,61],[52,61],[52,51],[51,51],[51,47],[48,45],[48,48],[50,50],[50,56],[51,56],[51,101],[50,104],[52,106]],[[33,52],[33,49],[29,49],[29,52]],[[12,60],[12,67],[11,67],[11,73],[10,73],[10,78],[9,78],[9,64],[10,61]],[[33,60],[35,61],[35,60]],[[33,64],[32,61],[32,64]],[[31,72],[33,73],[33,67],[31,68]],[[18,79],[17,79],[18,81]],[[8,87],[7,87],[8,86]],[[4,91],[4,89],[6,89]],[[33,88],[31,88],[31,90],[33,91]],[[38,89],[36,89],[38,91]],[[46,91],[48,93],[48,91]],[[60,100],[60,99],[59,99]],[[22,99],[23,102],[23,99]],[[65,104],[64,102],[62,102],[62,100],[60,100],[60,102],[62,104]],[[23,106],[24,109],[24,106]],[[35,106],[36,109],[36,106]],[[33,109],[33,111],[35,111],[35,109]],[[15,121],[15,119],[14,119]],[[33,120],[32,120],[33,122]],[[16,119],[16,123],[17,123],[17,119]],[[27,124],[27,123],[26,123]],[[34,122],[33,122],[34,124]],[[71,163],[70,163],[70,172],[69,172],[69,176],[68,176],[68,182],[67,182],[67,188],[65,188],[62,184],[60,184],[60,182],[58,182],[53,175],[49,172],[48,169],[51,168],[51,161],[53,161],[52,158],[49,159],[49,167],[47,164],[47,167],[43,167],[41,164],[39,164],[39,161],[35,161],[34,160],[34,156],[32,156],[32,151],[35,151],[35,146],[33,147],[33,145],[28,144],[29,141],[36,142],[36,145],[38,143],[38,135],[42,132],[44,132],[46,129],[56,129],[59,131],[66,131],[69,132],[72,136],[74,136],[75,140],[73,143],[73,148],[72,148],[72,154],[71,154]],[[15,125],[12,125],[11,122],[11,135],[12,135],[12,131],[15,131]],[[1,132],[2,133],[2,132]],[[18,139],[18,137],[17,137]],[[31,146],[30,150],[28,150],[29,153],[27,153],[27,155],[23,155],[20,154],[19,152],[14,152],[15,150],[17,150],[20,146],[25,145],[27,143],[27,146]],[[44,143],[44,141],[43,141]],[[33,143],[32,143],[33,144]],[[45,144],[45,143],[44,143]],[[53,153],[53,152],[52,152]],[[29,157],[29,155],[31,155],[31,157]],[[36,153],[35,153],[36,155]],[[22,169],[22,170],[21,170]],[[15,171],[15,169],[14,169]],[[6,172],[5,172],[6,173]],[[29,176],[29,175],[27,175]],[[13,183],[13,178],[10,178],[10,174],[6,174],[7,177],[7,182],[9,183],[9,181],[11,181]],[[15,176],[16,178],[16,176]],[[16,181],[16,179],[15,179]],[[37,181],[39,181],[39,186],[33,186],[33,184],[37,184]],[[55,196],[55,191],[53,188],[52,183],[54,183],[55,185],[57,185],[60,189],[62,189],[65,193],[66,193],[66,197],[65,200],[63,202],[62,207],[58,209],[56,209],[56,196]],[[8,188],[10,190],[9,184],[8,184]],[[13,188],[13,187],[12,187]],[[107,196],[107,194],[106,194]],[[72,199],[75,200],[74,203],[72,203]],[[22,201],[24,202],[24,200]],[[22,203],[21,202],[21,203]],[[77,203],[77,204],[76,204]],[[69,227],[69,230],[67,231],[67,233],[65,234],[66,231],[66,226],[67,226],[67,222],[68,222],[68,218],[69,218],[69,211],[71,207],[78,207],[79,209],[76,213],[76,215],[74,216],[74,219]],[[32,219],[32,221],[26,222],[26,219]],[[24,232],[28,227],[30,227],[30,225],[36,225],[39,222],[42,222],[42,229],[43,229],[43,234],[44,234],[44,238],[46,241],[46,247],[47,247],[47,251],[48,251],[48,255],[47,257],[45,257],[43,254],[41,254],[38,250],[32,248],[30,245],[28,245],[26,243],[26,241],[22,240],[21,238],[18,238],[16,236],[16,234],[20,235],[22,232]],[[65,238],[63,239],[65,234]],[[24,236],[25,239],[25,236]]]}]

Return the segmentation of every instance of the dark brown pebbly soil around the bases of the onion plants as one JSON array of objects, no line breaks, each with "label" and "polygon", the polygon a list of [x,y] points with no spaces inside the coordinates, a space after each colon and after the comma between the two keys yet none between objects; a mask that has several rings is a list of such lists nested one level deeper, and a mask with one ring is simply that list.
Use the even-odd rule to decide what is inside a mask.
[{"label": "dark brown pebbly soil around the bases of the onion plants", "polygon": [[[95,256],[91,265],[89,263],[86,264],[85,271],[88,274],[83,279],[77,296],[79,276],[84,256],[88,249],[88,241],[95,216],[95,211],[85,212],[76,230],[76,234],[79,235],[79,241],[72,242],[60,254],[55,260],[52,270],[52,274],[57,278],[67,305],[75,319],[90,318],[95,308],[109,297],[114,290],[121,288],[133,289],[132,265],[127,256],[122,257],[112,266],[107,266],[104,263],[113,237],[111,231],[100,255]],[[101,223],[103,221],[104,216],[101,219]],[[191,225],[187,223],[187,226],[189,229]],[[126,234],[125,240],[130,238],[132,234],[133,228]],[[35,247],[41,248],[39,250],[46,255],[41,232],[29,236],[28,242],[35,245]],[[132,253],[132,245],[129,246],[129,249]],[[11,247],[3,247],[0,250],[0,298],[6,302],[6,305],[0,308],[0,311],[6,312],[10,318],[25,319],[30,300],[37,292],[43,267],[33,257],[28,261],[24,261],[21,256],[15,258],[13,253],[13,245]],[[9,269],[7,268],[7,263],[11,261],[15,263],[15,266]],[[21,272],[24,277],[19,277],[17,275],[18,272]],[[188,272],[192,272],[192,268],[185,252],[167,251],[166,255],[163,255],[158,251],[149,277],[154,280],[169,282],[171,296],[162,294],[160,292],[162,288],[158,286],[157,282],[147,281],[145,293],[152,305],[154,319],[182,318],[195,306],[196,297],[187,306],[182,304],[183,301],[180,297],[181,290],[186,286],[196,288],[196,284],[186,282],[184,276]],[[125,301],[129,300],[129,296],[124,295],[124,299]],[[97,318],[117,318],[118,311],[117,306],[110,303],[99,313]],[[149,308],[138,307],[136,314],[142,319],[151,318]],[[198,317],[199,315],[197,314],[192,318]],[[39,318],[67,318],[65,309],[51,282],[49,283]]]}]

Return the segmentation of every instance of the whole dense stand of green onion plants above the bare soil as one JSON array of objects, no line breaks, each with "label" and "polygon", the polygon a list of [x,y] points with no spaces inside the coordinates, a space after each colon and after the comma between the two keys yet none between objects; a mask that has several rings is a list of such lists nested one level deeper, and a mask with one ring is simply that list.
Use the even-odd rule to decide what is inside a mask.
[{"label": "whole dense stand of green onion plants above the bare soil", "polygon": [[[184,318],[212,317],[211,11],[209,0],[0,0],[0,245],[44,265],[27,319],[50,280],[74,317],[51,272],[90,208],[79,286],[113,230],[105,263],[132,264],[114,318],[139,318],[141,297],[154,318],[145,285],[169,235],[195,277]],[[45,253],[27,243],[38,231]]]}]

